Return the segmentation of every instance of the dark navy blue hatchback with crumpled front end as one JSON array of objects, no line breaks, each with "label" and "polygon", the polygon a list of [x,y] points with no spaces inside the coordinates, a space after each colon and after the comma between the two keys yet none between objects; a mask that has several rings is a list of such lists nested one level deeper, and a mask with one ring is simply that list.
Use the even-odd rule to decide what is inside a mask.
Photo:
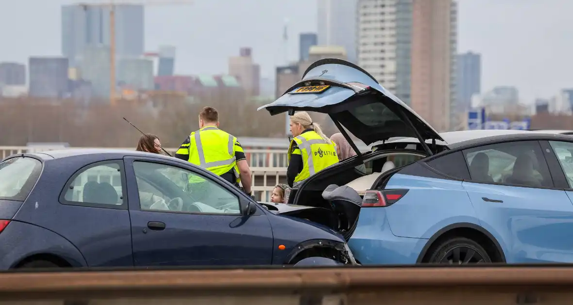
[{"label": "dark navy blue hatchback with crumpled front end", "polygon": [[[192,182],[192,183],[191,183]],[[338,232],[189,162],[128,150],[0,163],[0,270],[355,264]]]}]

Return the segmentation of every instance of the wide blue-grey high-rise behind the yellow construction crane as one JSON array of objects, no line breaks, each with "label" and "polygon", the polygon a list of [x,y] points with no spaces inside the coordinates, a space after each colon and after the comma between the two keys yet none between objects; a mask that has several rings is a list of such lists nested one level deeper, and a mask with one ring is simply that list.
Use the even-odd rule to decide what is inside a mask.
[{"label": "wide blue-grey high-rise behind the yellow construction crane", "polygon": [[[62,54],[77,66],[77,57],[87,46],[110,45],[109,7],[62,6]],[[139,57],[144,52],[143,5],[115,6],[117,59]]]}]

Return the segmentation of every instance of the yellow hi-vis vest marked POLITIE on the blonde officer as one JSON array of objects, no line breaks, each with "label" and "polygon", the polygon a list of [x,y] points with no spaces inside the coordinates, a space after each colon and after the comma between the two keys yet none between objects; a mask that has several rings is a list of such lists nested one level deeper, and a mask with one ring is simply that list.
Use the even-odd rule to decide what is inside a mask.
[{"label": "yellow hi-vis vest marked POLITIE on the blonde officer", "polygon": [[[293,150],[294,143],[299,146],[299,149]],[[296,175],[295,182],[301,182],[324,168],[338,163],[336,144],[332,141],[325,141],[314,130],[292,139],[287,154],[289,162],[293,154],[300,154],[303,157],[303,170]]]}]

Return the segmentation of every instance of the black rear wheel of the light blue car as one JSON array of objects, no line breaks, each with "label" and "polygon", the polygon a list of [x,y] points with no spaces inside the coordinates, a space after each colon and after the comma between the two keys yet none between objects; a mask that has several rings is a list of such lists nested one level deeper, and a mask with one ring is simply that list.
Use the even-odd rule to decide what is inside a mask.
[{"label": "black rear wheel of the light blue car", "polygon": [[[438,264],[475,264],[491,263],[492,259],[479,243],[465,237],[446,239],[433,248],[428,263]],[[457,252],[457,259],[456,259]],[[468,259],[466,262],[465,260]]]}]

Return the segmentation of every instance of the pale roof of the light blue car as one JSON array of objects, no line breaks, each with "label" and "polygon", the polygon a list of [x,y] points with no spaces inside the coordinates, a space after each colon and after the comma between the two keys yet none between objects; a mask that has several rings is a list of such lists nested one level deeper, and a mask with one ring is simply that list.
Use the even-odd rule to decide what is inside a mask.
[{"label": "pale roof of the light blue car", "polygon": [[[496,141],[499,139],[548,137],[548,138],[571,140],[570,135],[561,135],[556,133],[545,133],[541,131],[527,131],[527,130],[461,130],[461,131],[448,131],[446,133],[440,133],[440,135],[445,140],[445,142],[436,141],[436,144],[447,146],[449,149],[456,149],[458,147]],[[388,140],[386,143],[399,143],[399,142],[419,143],[417,138],[394,138]],[[426,142],[430,143],[431,141],[426,141]],[[376,143],[374,145],[376,145]]]}]

